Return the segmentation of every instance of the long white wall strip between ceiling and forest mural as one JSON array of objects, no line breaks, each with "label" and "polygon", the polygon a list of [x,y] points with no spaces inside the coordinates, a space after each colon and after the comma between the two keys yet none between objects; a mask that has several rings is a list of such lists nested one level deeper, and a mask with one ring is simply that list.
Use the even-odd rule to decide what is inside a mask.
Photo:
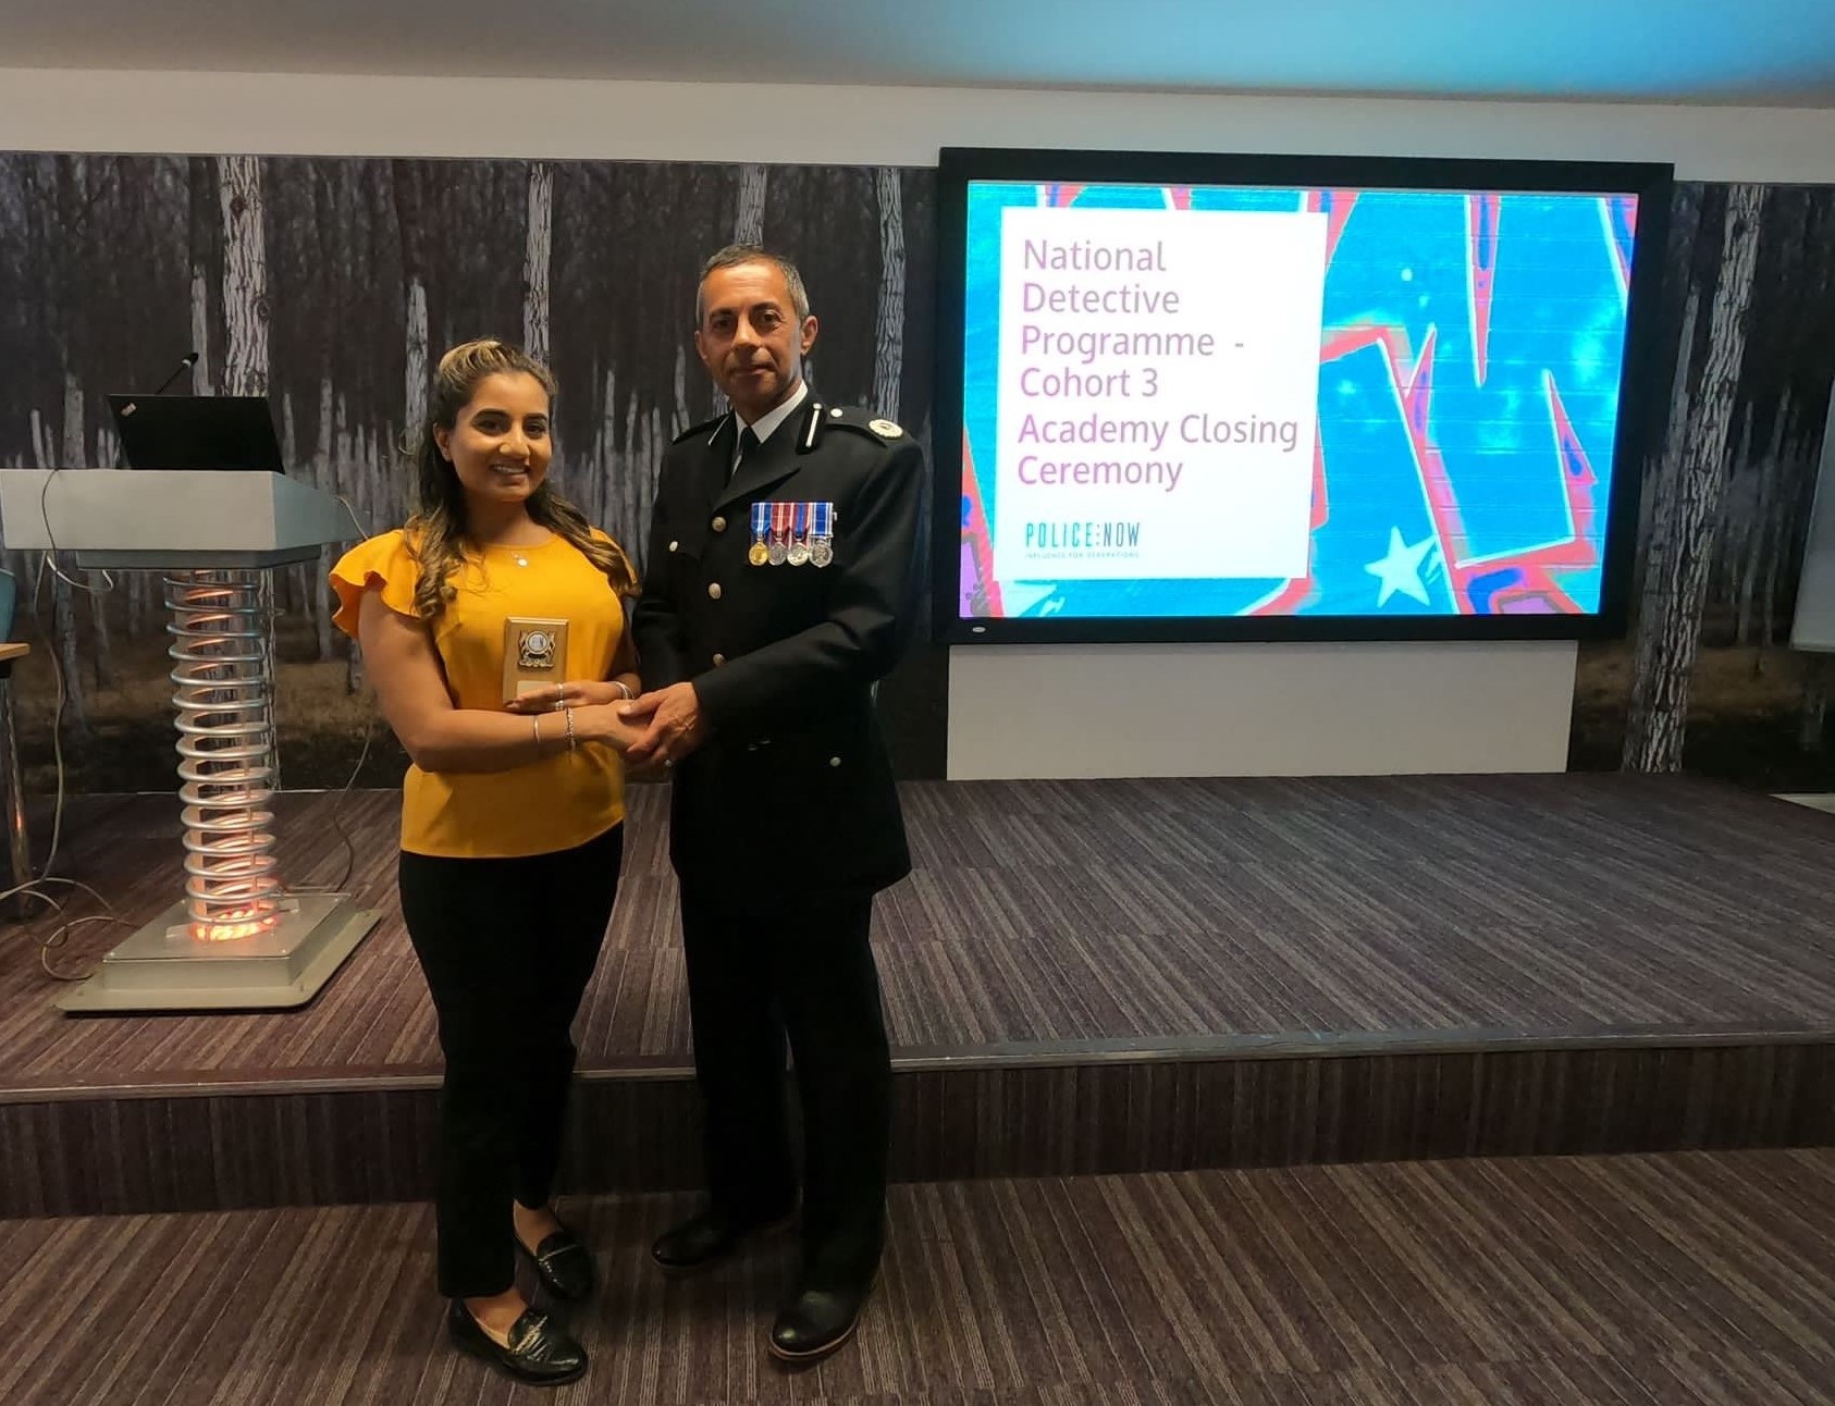
[{"label": "long white wall strip between ceiling and forest mural", "polygon": [[15,151],[897,162],[1149,147],[1675,162],[1835,182],[1835,110],[0,70]]}]

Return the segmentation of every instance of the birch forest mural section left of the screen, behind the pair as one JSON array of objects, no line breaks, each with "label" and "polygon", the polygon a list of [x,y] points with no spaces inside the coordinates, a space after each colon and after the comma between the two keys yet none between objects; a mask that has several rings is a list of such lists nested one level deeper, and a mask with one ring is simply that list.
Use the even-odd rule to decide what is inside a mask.
[{"label": "birch forest mural section left of the screen, behind the pair", "polygon": [[[818,395],[929,435],[932,187],[873,167],[9,154],[0,466],[117,464],[105,396],[154,389],[195,351],[189,389],[266,395],[290,472],[382,530],[409,510],[404,446],[433,362],[501,336],[560,380],[562,492],[642,565],[662,450],[721,409],[690,347],[699,264],[721,244],[798,261]],[[371,742],[360,782],[395,784],[404,758],[369,736],[361,659],[327,611],[330,560],[275,584],[283,780],[343,786]],[[15,633],[68,679],[72,786],[174,786],[160,582],[9,565]],[[881,688],[906,775],[941,771],[941,664],[919,646]],[[40,661],[20,670],[39,786],[53,692]]]}]

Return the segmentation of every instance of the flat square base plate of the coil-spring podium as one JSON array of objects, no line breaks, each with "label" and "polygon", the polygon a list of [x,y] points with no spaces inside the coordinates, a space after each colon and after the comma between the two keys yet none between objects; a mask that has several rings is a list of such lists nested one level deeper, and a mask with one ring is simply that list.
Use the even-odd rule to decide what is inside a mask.
[{"label": "flat square base plate of the coil-spring podium", "polygon": [[174,903],[103,958],[59,1010],[250,1011],[305,1006],[382,918],[349,894],[286,898],[266,931],[200,942]]}]

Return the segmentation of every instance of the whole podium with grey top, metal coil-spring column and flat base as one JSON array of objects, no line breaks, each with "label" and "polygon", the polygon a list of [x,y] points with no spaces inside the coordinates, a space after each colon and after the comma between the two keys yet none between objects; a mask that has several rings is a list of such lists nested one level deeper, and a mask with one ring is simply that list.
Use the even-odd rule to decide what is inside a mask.
[{"label": "whole podium with grey top, metal coil-spring column and flat base", "polygon": [[273,657],[264,573],[343,532],[283,474],[0,470],[0,540],[77,565],[158,571],[172,637],[185,887],[73,988],[66,1011],[283,1010],[317,995],[382,916],[288,894],[273,854]]}]

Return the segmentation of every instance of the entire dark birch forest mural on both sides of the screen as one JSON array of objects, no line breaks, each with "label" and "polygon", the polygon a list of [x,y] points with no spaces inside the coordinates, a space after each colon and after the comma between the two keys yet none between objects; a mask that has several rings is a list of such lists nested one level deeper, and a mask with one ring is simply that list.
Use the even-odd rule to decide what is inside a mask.
[{"label": "entire dark birch forest mural on both sides of the screen", "polygon": [[[662,450],[719,409],[688,334],[699,262],[734,239],[802,266],[817,391],[929,444],[927,169],[0,154],[0,468],[117,464],[105,396],[196,352],[174,389],[266,395],[292,472],[380,530],[409,507],[431,362],[503,336],[560,378],[562,490],[640,558]],[[1784,648],[1835,376],[1835,189],[1677,185],[1661,323],[1637,622],[1582,652],[1573,764],[1835,786],[1828,668]],[[393,786],[328,556],[275,582],[283,782],[343,786],[363,756],[360,784]],[[55,652],[72,789],[171,789],[158,580],[7,558],[13,633],[40,646],[28,782],[53,782]],[[945,668],[918,642],[881,690],[903,775],[941,775]]]}]

